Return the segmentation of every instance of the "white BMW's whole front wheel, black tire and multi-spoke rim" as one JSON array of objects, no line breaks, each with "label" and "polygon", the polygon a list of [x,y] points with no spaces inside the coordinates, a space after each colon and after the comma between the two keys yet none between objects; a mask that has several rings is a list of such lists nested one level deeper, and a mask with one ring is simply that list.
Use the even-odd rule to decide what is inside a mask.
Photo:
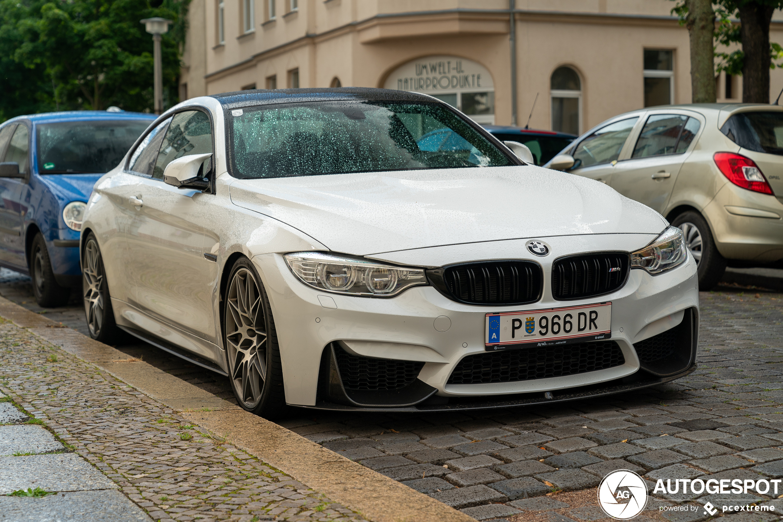
[{"label": "white BMW's whole front wheel, black tire and multi-spoke rim", "polygon": [[236,401],[266,419],[284,416],[288,408],[275,321],[261,278],[247,257],[231,268],[223,307],[223,342]]}]

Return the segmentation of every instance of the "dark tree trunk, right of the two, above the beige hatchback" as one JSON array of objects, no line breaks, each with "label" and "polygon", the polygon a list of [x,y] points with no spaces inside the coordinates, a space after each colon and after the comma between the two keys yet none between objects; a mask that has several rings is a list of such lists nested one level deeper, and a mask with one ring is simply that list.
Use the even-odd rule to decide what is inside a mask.
[{"label": "dark tree trunk, right of the two, above the beige hatchback", "polygon": [[770,103],[770,20],[774,7],[745,2],[739,6],[742,53],[742,102]]}]

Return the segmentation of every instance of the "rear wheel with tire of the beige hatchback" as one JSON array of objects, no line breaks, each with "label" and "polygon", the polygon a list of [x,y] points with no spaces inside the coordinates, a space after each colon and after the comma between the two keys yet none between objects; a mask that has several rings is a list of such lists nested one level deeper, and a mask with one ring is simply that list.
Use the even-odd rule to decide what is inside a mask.
[{"label": "rear wheel with tire of the beige hatchback", "polygon": [[702,214],[687,211],[677,216],[672,225],[683,231],[685,244],[698,265],[698,289],[712,290],[726,272],[726,259],[715,247],[713,233]]}]

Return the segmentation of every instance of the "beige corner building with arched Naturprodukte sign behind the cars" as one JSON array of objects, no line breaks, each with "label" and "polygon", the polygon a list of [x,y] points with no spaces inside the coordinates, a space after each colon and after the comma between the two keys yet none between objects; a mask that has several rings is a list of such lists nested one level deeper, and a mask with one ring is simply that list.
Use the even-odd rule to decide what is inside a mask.
[{"label": "beige corner building with arched Naturprodukte sign behind the cars", "polygon": [[[516,117],[524,126],[532,110],[531,128],[578,134],[618,113],[691,101],[688,34],[673,6],[194,0],[181,97],[248,88],[397,88],[435,95],[480,123],[513,124]],[[783,43],[780,13],[770,39]],[[774,100],[783,70],[771,74]],[[717,82],[720,101],[742,99],[741,77],[721,74]]]}]

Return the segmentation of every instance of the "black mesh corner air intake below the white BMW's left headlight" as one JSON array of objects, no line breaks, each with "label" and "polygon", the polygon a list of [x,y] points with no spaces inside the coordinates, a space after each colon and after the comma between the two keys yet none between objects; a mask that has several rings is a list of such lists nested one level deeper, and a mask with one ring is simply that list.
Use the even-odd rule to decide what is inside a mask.
[{"label": "black mesh corner air intake below the white BMW's left headlight", "polygon": [[424,367],[424,362],[359,357],[337,346],[334,354],[346,390],[399,390],[413,383]]}]

